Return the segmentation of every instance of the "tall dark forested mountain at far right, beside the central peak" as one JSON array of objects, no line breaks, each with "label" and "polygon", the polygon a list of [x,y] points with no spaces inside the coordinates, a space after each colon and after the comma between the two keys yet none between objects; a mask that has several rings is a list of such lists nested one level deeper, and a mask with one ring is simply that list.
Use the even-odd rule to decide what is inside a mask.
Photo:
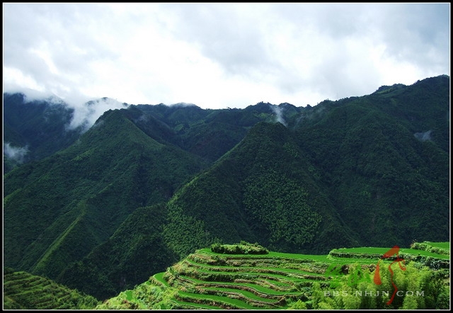
[{"label": "tall dark forested mountain at far right, beside the central peak", "polygon": [[296,131],[361,244],[449,236],[448,93],[446,76],[392,86],[332,103]]}]

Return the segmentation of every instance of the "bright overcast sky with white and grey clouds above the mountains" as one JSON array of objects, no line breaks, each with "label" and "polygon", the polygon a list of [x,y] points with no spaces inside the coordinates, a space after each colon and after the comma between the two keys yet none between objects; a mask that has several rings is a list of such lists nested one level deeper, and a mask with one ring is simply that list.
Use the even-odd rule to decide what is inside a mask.
[{"label": "bright overcast sky with white and grey clouds above the mountains", "polygon": [[3,87],[74,106],[316,106],[450,75],[449,13],[449,3],[3,4]]}]

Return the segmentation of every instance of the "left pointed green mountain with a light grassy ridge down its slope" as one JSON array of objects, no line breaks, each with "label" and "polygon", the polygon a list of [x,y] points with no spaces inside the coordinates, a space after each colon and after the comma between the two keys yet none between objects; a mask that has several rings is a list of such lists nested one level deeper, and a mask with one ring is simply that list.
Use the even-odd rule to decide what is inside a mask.
[{"label": "left pointed green mountain with a light grassy ridge down its slope", "polygon": [[203,162],[110,110],[71,147],[4,177],[5,264],[57,278],[137,207],[168,200]]}]

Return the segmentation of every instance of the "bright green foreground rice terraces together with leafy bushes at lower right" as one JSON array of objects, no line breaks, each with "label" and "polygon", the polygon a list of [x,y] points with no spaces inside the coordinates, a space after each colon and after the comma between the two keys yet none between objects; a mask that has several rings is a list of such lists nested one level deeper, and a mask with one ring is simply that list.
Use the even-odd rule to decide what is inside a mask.
[{"label": "bright green foreground rice terraces together with leafy bushes at lower right", "polygon": [[199,249],[96,309],[448,309],[449,300],[449,242],[305,255],[241,241]]}]

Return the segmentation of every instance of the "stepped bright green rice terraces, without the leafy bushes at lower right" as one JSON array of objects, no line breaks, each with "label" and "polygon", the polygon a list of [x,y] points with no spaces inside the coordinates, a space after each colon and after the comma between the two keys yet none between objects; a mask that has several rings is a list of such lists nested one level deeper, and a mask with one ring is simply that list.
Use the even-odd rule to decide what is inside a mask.
[{"label": "stepped bright green rice terraces, without the leafy bushes at lower right", "polygon": [[[270,251],[265,255],[217,254],[200,249],[183,261],[153,275],[124,297],[108,300],[99,309],[287,309],[297,302],[309,302],[313,283],[328,288],[333,279],[329,266],[338,266],[338,275],[360,263],[370,272],[389,249],[336,249],[316,256],[283,254]],[[449,256],[428,251],[401,249],[406,258],[420,254],[449,268]],[[426,260],[424,258],[423,260]],[[422,260],[422,261],[423,261]],[[382,260],[390,264],[391,259]]]}]

